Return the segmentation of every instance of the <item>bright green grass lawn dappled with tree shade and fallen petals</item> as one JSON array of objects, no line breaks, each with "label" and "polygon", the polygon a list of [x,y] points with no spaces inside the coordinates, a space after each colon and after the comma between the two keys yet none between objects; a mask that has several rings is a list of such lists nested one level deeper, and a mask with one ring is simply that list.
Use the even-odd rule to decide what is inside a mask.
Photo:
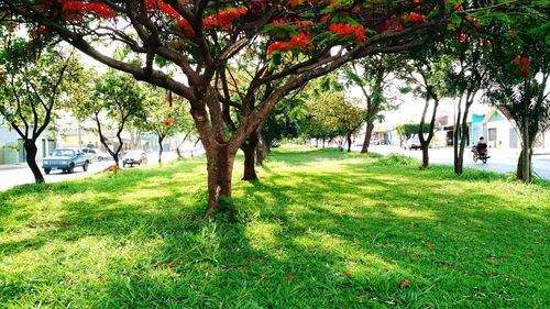
[{"label": "bright green grass lawn dappled with tree shade and fallen petals", "polygon": [[0,192],[0,308],[550,307],[550,184],[418,165],[282,148],[238,222],[204,158]]}]

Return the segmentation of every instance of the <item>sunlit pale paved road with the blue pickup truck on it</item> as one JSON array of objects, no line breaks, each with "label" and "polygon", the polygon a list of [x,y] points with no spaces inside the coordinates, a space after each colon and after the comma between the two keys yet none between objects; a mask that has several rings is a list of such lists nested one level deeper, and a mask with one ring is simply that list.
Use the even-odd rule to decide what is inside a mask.
[{"label": "sunlit pale paved road with the blue pickup truck on it", "polygon": [[[184,151],[184,156],[190,155],[190,151]],[[198,147],[194,151],[195,155],[204,153],[204,150],[201,147]],[[156,153],[151,153],[147,155],[148,157],[148,164],[157,164],[158,162],[158,154]],[[168,162],[172,159],[175,159],[177,155],[175,153],[164,153],[163,154],[163,162]],[[84,178],[89,175],[96,174],[98,172],[101,172],[106,169],[107,167],[113,165],[113,161],[107,161],[107,162],[94,162],[90,164],[88,167],[88,172],[84,172],[81,167],[75,168],[75,173],[73,174],[66,174],[62,173],[61,170],[52,170],[50,175],[44,175],[44,178],[46,183],[59,183],[68,179],[77,179],[77,178]],[[122,166],[122,163],[121,163]],[[140,168],[140,167],[127,167],[127,168]],[[22,165],[19,168],[11,168],[11,169],[0,169],[0,191],[10,189],[14,186],[18,185],[24,185],[24,184],[32,184],[34,183],[34,176],[31,172],[31,169],[26,165]]]}]

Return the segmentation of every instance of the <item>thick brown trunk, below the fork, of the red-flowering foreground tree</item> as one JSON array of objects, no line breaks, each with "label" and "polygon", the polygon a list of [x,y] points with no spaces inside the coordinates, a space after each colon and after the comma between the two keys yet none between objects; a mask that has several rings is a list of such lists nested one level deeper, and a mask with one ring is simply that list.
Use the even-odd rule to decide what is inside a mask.
[{"label": "thick brown trunk, below the fork, of the red-flowering foreground tree", "polygon": [[234,154],[230,154],[228,144],[218,143],[215,148],[207,150],[207,217],[223,210],[235,211],[235,206],[230,200],[233,163]]}]

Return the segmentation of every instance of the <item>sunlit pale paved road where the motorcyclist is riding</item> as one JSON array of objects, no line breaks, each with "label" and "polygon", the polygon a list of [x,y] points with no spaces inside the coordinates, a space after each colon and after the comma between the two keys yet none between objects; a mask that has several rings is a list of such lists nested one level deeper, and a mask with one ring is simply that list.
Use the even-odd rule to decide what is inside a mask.
[{"label": "sunlit pale paved road where the motorcyclist is riding", "polygon": [[[360,151],[361,147],[353,147],[354,151]],[[405,151],[397,146],[372,146],[371,151],[374,153],[380,153],[382,155],[387,155],[392,153],[403,154],[414,158],[421,159],[421,151]],[[464,167],[473,167],[483,170],[491,170],[497,173],[510,173],[516,170],[516,164],[519,154],[517,152],[502,151],[490,148],[491,158],[487,164],[481,162],[473,162],[470,148],[465,150],[464,155]],[[430,150],[430,163],[436,164],[453,164],[452,148],[435,148]],[[535,155],[532,156],[532,167],[535,173],[544,179],[550,180],[550,155]]]}]

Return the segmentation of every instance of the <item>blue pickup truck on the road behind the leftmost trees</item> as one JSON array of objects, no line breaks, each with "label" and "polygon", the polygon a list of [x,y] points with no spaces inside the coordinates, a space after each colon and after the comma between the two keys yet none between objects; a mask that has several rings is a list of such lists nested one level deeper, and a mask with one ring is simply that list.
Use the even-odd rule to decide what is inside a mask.
[{"label": "blue pickup truck on the road behind the leftmost trees", "polygon": [[57,148],[52,155],[46,156],[42,163],[44,173],[50,174],[52,169],[62,169],[63,172],[73,173],[75,167],[82,167],[84,172],[88,170],[88,165],[91,163],[91,155],[84,154],[79,150]]}]

